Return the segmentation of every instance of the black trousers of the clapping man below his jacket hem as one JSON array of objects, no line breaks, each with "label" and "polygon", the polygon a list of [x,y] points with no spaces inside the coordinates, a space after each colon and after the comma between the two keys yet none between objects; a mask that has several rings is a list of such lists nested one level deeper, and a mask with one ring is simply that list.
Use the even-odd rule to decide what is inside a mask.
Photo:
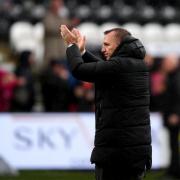
[{"label": "black trousers of the clapping man below his jacket hem", "polygon": [[95,166],[96,180],[142,180],[144,171],[134,172],[117,166]]}]

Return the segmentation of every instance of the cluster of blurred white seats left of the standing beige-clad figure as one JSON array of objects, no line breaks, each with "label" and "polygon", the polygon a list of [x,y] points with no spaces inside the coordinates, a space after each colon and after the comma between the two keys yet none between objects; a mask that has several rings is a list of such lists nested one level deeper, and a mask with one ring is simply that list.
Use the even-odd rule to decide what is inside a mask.
[{"label": "cluster of blurred white seats left of the standing beige-clad figure", "polygon": [[15,52],[30,50],[35,54],[37,62],[41,62],[44,54],[44,26],[34,26],[28,22],[16,22],[10,29],[11,48]]}]

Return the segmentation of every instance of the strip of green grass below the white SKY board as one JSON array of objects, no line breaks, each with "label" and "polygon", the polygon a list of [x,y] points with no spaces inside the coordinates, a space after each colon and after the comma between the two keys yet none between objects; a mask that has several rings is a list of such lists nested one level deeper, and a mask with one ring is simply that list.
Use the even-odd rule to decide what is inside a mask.
[{"label": "strip of green grass below the white SKY board", "polygon": [[[161,180],[163,172],[148,173],[144,180]],[[95,180],[93,171],[20,171],[17,176],[0,176],[0,180]],[[170,179],[166,179],[170,180]]]}]

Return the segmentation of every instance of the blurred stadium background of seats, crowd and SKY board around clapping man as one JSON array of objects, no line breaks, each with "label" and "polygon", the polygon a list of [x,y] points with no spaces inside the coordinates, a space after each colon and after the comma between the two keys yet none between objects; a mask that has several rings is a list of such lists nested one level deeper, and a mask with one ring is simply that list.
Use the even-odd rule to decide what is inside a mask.
[{"label": "blurred stadium background of seats, crowd and SKY board around clapping man", "polygon": [[97,54],[103,32],[113,27],[144,43],[153,139],[146,179],[171,179],[163,114],[180,108],[180,1],[0,0],[0,17],[0,179],[94,178],[94,87],[69,73],[57,45],[61,23],[77,27]]}]

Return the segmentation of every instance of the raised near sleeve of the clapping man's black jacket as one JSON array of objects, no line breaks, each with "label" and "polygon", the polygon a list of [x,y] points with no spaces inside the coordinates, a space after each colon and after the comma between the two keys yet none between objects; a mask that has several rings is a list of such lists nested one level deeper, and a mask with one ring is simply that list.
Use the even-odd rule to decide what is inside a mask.
[{"label": "raised near sleeve of the clapping man's black jacket", "polygon": [[67,59],[74,77],[82,81],[94,82],[110,78],[116,73],[116,61],[95,61],[85,63],[76,45],[67,48]]}]

